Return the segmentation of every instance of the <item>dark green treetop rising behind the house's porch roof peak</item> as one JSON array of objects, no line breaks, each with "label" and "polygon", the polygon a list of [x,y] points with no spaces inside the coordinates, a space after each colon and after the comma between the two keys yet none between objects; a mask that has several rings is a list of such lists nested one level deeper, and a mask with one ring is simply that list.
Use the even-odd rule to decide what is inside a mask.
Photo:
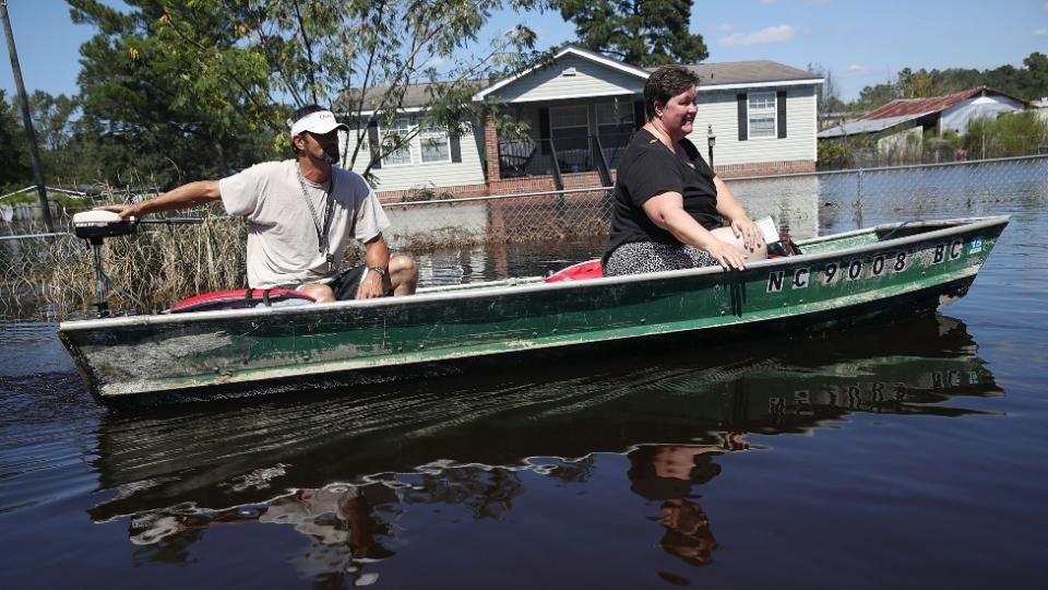
[{"label": "dark green treetop rising behind the house's porch roof peak", "polygon": [[560,0],[580,44],[634,66],[698,63],[710,52],[688,32],[692,0]]}]

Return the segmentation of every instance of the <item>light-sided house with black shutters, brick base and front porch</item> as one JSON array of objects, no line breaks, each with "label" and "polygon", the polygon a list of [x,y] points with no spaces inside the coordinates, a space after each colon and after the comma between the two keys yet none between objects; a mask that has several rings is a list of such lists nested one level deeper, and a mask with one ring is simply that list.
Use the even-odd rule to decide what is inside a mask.
[{"label": "light-sided house with black shutters, brick base and front porch", "polygon": [[[687,68],[700,79],[690,139],[707,158],[713,145],[718,174],[814,169],[821,78],[774,61]],[[500,103],[503,114],[526,123],[524,137],[500,137],[493,119],[468,123],[469,132],[457,139],[428,130],[372,168],[377,190],[395,199],[419,189],[498,194],[608,186],[622,150],[644,123],[644,82],[653,70],[564,47],[549,62],[474,95]],[[417,125],[419,107],[407,98],[397,129],[369,129],[357,167],[364,168],[367,150],[380,144],[383,133]],[[345,148],[356,148],[353,138]]]}]

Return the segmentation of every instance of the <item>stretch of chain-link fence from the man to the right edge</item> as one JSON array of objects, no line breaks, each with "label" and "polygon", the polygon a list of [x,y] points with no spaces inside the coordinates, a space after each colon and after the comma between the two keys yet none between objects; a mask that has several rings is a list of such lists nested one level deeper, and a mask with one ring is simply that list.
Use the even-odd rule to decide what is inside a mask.
[{"label": "stretch of chain-link fence from the man to the right edge", "polygon": [[[1048,155],[726,180],[752,219],[796,238],[896,219],[992,213],[1014,194],[1046,194]],[[607,188],[388,204],[405,250],[606,236]],[[598,253],[598,252],[595,252]]]}]

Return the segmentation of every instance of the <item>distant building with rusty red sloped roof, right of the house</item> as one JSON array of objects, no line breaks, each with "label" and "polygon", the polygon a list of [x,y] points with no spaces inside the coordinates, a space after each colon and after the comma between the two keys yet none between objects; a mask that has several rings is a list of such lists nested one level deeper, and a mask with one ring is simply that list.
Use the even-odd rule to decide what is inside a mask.
[{"label": "distant building with rusty red sloped roof, right of the house", "polygon": [[820,131],[820,141],[867,137],[877,143],[881,156],[919,156],[926,131],[964,134],[968,123],[979,118],[998,118],[1016,113],[1029,103],[986,86],[945,96],[900,98],[867,113],[857,120]]}]

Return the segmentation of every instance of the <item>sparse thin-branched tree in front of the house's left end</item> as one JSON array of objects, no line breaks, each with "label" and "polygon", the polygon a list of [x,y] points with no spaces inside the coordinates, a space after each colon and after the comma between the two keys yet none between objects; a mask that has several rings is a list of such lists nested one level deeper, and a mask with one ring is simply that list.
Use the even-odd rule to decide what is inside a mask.
[{"label": "sparse thin-branched tree in front of the house's left end", "polygon": [[[296,104],[332,101],[354,129],[354,149],[343,166],[355,167],[369,148],[364,175],[382,154],[409,143],[428,127],[452,135],[468,131],[495,105],[472,101],[484,80],[523,71],[548,54],[533,50],[535,34],[523,25],[480,39],[477,32],[502,8],[545,10],[547,0],[400,0],[332,1],[309,10],[297,2],[274,1],[293,10],[271,11],[271,30],[258,26],[283,91]],[[324,13],[323,11],[330,11]],[[404,115],[406,93],[422,91],[417,125],[402,134],[385,134],[372,145],[368,128],[393,128]]]}]

